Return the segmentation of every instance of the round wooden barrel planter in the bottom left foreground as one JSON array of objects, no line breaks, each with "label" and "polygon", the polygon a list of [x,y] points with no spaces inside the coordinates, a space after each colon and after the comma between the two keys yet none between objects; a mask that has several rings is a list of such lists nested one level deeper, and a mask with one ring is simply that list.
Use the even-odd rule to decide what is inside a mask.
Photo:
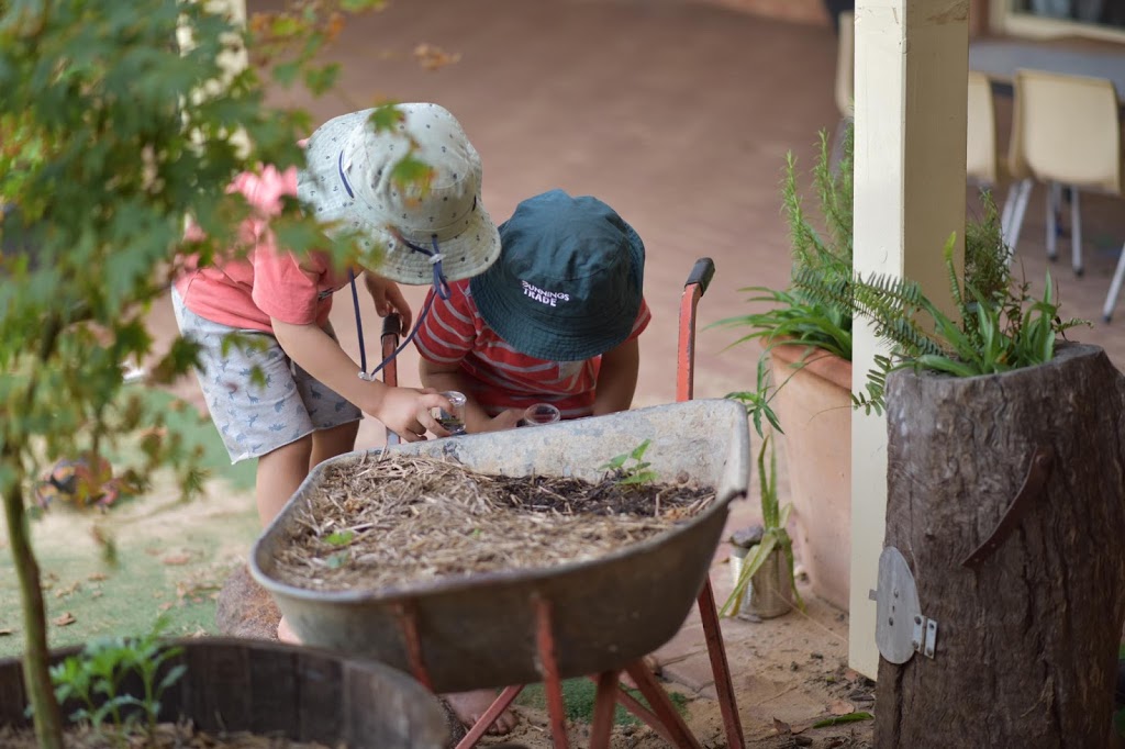
[{"label": "round wooden barrel planter in the bottom left foreground", "polygon": [[[212,736],[249,731],[349,749],[441,749],[446,716],[417,682],[374,660],[230,638],[173,640],[164,668],[187,671],[161,700],[161,721],[187,719]],[[81,648],[54,651],[55,660]],[[126,683],[137,694],[140,683]],[[132,692],[137,688],[137,693]],[[0,660],[0,725],[30,727],[22,665]],[[63,705],[69,715],[71,705]]]}]

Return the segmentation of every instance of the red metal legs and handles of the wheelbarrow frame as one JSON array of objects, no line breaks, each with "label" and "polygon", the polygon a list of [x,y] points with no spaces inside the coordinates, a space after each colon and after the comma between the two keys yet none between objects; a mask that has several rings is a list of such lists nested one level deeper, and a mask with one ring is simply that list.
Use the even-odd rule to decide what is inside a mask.
[{"label": "red metal legs and handles of the wheelbarrow frame", "polygon": [[[695,262],[687,277],[687,281],[684,283],[680,306],[680,336],[676,357],[677,401],[691,400],[693,396],[695,308],[699,305],[699,300],[706,292],[706,288],[713,277],[714,262],[710,258],[701,258]],[[380,336],[384,359],[397,349],[400,324],[400,318],[396,314],[390,314],[384,319],[382,335]],[[384,382],[388,386],[394,387],[398,383],[398,371],[395,360],[390,360],[384,367],[382,378]],[[392,445],[397,442],[398,435],[388,430],[387,444]],[[738,704],[735,700],[734,684],[730,678],[727,651],[722,640],[722,632],[719,628],[719,613],[716,607],[714,592],[711,588],[710,578],[703,584],[698,605],[706,640],[708,655],[711,659],[711,669],[714,674],[719,709],[722,713],[723,728],[727,733],[727,746],[730,749],[745,749],[746,745],[738,715]],[[543,599],[538,601],[536,615],[536,643],[540,664],[542,665],[543,691],[547,697],[548,714],[550,715],[551,737],[556,749],[567,749],[566,706],[562,700],[562,682],[559,678],[555,659],[550,604]],[[406,634],[407,648],[411,651],[411,670],[418,682],[426,687],[431,687],[425,665],[422,660],[416,622],[410,611],[402,612],[402,626]],[[594,701],[594,715],[590,732],[591,749],[609,749],[610,734],[613,729],[613,714],[618,703],[621,703],[623,707],[644,721],[673,747],[677,747],[677,749],[700,749],[699,740],[692,734],[686,723],[684,723],[683,718],[676,711],[672,700],[668,698],[668,694],[659,685],[648,667],[645,666],[644,661],[637,660],[629,664],[626,666],[624,671],[632,677],[650,707],[646,707],[621,687],[620,671],[603,671],[596,676],[591,676],[597,684],[597,695]],[[458,742],[457,749],[470,749],[475,747],[496,719],[511,706],[524,686],[526,685],[519,684],[503,689],[488,710],[468,730],[465,738]]]}]

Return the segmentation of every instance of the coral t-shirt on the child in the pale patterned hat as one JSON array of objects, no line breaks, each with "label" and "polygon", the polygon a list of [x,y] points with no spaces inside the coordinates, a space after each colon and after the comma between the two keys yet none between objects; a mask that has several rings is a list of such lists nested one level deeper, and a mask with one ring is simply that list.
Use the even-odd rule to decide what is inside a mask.
[{"label": "coral t-shirt on the child in the pale patterned hat", "polygon": [[[240,174],[228,191],[240,191],[254,210],[243,225],[252,247],[236,260],[189,268],[176,280],[188,309],[238,330],[272,333],[270,318],[294,325],[324,325],[332,294],[348,282],[348,270],[333,268],[327,253],[310,252],[300,261],[279,250],[269,222],[281,210],[282,196],[297,195],[297,169]],[[189,262],[190,267],[190,262]]]}]

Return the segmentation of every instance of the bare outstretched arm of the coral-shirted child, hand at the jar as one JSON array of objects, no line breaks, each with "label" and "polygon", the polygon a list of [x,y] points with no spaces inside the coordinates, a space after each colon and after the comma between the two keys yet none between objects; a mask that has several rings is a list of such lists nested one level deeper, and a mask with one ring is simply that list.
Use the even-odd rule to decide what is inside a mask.
[{"label": "bare outstretched arm of the coral-shirted child, hand at the jar", "polygon": [[442,436],[449,434],[430,415],[431,407],[450,407],[436,391],[390,388],[379,381],[361,380],[359,366],[320,326],[294,325],[277,318],[271,322],[278,343],[302,369],[406,442],[423,439],[426,430]]}]

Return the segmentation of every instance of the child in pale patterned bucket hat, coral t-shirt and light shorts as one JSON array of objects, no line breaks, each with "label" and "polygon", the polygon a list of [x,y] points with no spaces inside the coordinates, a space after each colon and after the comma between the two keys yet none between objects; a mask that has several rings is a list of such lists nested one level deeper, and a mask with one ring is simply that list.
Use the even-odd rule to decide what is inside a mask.
[{"label": "child in pale patterned bucket hat, coral t-shirt and light shorts", "polygon": [[[403,190],[393,179],[407,153],[430,168],[428,192]],[[201,346],[199,382],[232,462],[258,459],[263,524],[310,466],[353,449],[362,413],[412,442],[428,428],[443,434],[429,414],[448,406],[433,389],[389,388],[357,377],[359,367],[335,340],[328,312],[333,292],[363,269],[338,268],[321,252],[298,259],[277,246],[269,222],[281,197],[297,195],[333,222],[330,231],[358,232],[369,247],[386,247],[386,262],[375,269],[379,276],[362,274],[378,314],[396,310],[407,326],[411,310],[394,281],[432,282],[440,295],[449,281],[482,272],[500,253],[496,227],[480,202],[480,157],[438,105],[331,119],[308,139],[306,163],[300,173],[266,166],[241,174],[231,189],[245,195],[254,211],[245,227],[252,249],[243,258],[190,267],[172,291],[181,333]],[[231,333],[258,345],[224,345]]]}]

